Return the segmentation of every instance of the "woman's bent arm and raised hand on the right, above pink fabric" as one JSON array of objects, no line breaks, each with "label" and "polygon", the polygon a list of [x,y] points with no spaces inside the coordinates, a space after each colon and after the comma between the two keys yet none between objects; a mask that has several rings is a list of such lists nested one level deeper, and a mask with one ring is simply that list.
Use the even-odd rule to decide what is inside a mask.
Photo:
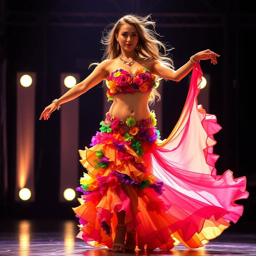
[{"label": "woman's bent arm and raised hand on the right, above pink fabric", "polygon": [[[208,50],[196,53],[193,56],[193,60],[198,61],[198,60],[212,59],[211,63],[216,64],[217,63],[216,56],[219,57],[220,55],[208,49]],[[184,64],[178,70],[173,70],[172,68],[165,66],[162,62],[160,62],[160,60],[154,60],[152,65],[152,73],[156,76],[160,76],[162,78],[179,82],[193,69],[193,67],[194,67],[194,64],[189,60],[186,64]]]}]

